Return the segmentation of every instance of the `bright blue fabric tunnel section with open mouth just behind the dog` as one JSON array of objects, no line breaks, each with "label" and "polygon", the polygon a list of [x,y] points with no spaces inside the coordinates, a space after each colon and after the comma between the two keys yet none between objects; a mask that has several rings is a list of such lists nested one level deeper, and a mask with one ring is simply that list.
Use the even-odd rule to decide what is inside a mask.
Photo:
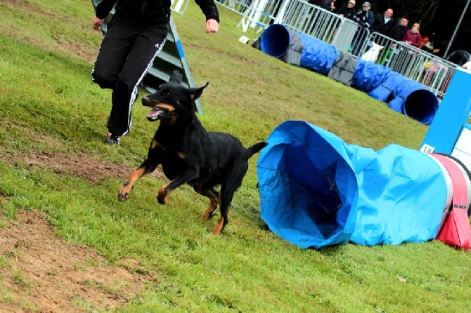
[{"label": "bright blue fabric tunnel section with open mouth just behind the dog", "polygon": [[347,145],[304,121],[269,136],[257,161],[260,215],[301,248],[434,239],[447,182],[431,156],[399,145]]}]

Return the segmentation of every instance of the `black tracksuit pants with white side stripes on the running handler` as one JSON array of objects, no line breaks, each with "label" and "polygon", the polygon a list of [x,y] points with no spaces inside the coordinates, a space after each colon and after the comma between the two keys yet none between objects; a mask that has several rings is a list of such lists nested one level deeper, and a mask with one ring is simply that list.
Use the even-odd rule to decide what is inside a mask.
[{"label": "black tracksuit pants with white side stripes on the running handler", "polygon": [[91,72],[101,88],[112,89],[108,131],[126,135],[131,128],[131,107],[138,85],[165,44],[168,25],[134,25],[114,16]]}]

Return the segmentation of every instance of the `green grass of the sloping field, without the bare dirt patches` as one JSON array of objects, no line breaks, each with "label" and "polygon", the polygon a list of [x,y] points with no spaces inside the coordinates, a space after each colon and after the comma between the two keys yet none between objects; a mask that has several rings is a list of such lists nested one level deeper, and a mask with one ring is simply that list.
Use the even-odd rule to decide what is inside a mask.
[{"label": "green grass of the sloping field, without the bare dirt patches", "polygon": [[[157,125],[136,102],[130,135],[120,147],[103,145],[110,91],[91,82],[102,36],[91,30],[90,1],[6,1],[0,11],[0,153],[18,156],[0,161],[0,194],[9,197],[0,198],[1,211],[15,218],[18,208],[39,209],[70,243],[96,248],[115,265],[136,258],[139,271],[157,271],[157,283],[121,312],[469,312],[467,253],[439,242],[302,250],[266,230],[254,188],[256,157],[219,237],[209,234],[216,220],[198,219],[207,200],[190,187],[160,206],[155,196],[165,181],[146,177],[119,203],[124,177],[90,182],[20,161],[29,153],[77,152],[134,168]],[[297,119],[363,147],[418,149],[425,126],[240,44],[238,16],[220,11],[217,34],[205,34],[194,3],[174,16],[195,83],[210,83],[200,116],[209,130],[251,145]]]}]

